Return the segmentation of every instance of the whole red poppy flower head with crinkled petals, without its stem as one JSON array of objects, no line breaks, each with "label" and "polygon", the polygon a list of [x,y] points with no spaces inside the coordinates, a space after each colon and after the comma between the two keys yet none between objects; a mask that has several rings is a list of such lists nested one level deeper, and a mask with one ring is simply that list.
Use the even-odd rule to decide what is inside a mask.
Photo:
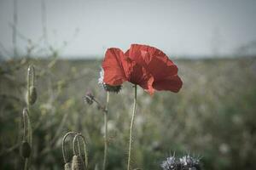
[{"label": "whole red poppy flower head with crinkled petals, without its stem", "polygon": [[154,90],[177,93],[183,82],[177,66],[160,49],[132,44],[124,54],[119,48],[108,48],[102,63],[103,82],[118,86],[125,81],[137,84],[154,94]]}]

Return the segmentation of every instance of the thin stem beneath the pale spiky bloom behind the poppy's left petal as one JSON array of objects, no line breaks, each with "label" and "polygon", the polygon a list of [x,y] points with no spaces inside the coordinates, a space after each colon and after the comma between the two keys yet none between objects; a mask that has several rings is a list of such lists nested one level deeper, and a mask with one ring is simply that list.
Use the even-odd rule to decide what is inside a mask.
[{"label": "thin stem beneath the pale spiky bloom behind the poppy's left petal", "polygon": [[108,155],[108,103],[109,103],[109,92],[107,92],[107,101],[106,101],[106,107],[104,110],[105,147],[104,147],[104,159],[103,159],[103,167],[102,167],[103,170],[106,169],[107,155]]}]

